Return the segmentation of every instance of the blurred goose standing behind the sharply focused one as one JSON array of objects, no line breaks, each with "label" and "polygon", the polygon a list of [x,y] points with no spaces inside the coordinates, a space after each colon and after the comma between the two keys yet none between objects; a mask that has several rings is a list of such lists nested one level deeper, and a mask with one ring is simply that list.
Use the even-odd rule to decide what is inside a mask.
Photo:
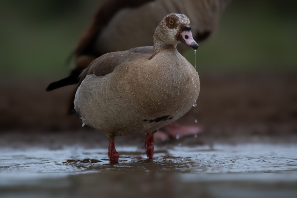
[{"label": "blurred goose standing behind the sharply focused one", "polygon": [[[109,0],[99,7],[90,28],[81,37],[75,50],[75,67],[71,74],[51,83],[47,91],[77,84],[79,75],[97,57],[114,51],[137,46],[153,45],[154,28],[168,13],[182,13],[191,19],[192,34],[196,41],[207,39],[217,26],[219,17],[230,0]],[[178,45],[182,53],[185,45]],[[69,112],[73,111],[75,91],[71,97]],[[180,138],[197,134],[201,126],[180,126],[172,123],[158,132],[162,139]]]}]

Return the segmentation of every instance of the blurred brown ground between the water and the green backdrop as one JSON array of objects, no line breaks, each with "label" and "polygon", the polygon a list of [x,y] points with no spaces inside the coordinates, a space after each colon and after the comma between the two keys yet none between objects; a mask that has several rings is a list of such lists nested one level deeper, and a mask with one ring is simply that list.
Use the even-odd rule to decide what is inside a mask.
[{"label": "blurred brown ground between the water and the green backdrop", "polygon": [[[200,72],[197,107],[178,122],[204,127],[204,136],[297,135],[296,73]],[[46,92],[50,80],[2,79],[0,132],[86,131],[67,115],[74,86]],[[88,127],[87,127],[88,128]],[[94,130],[94,129],[87,129]]]}]

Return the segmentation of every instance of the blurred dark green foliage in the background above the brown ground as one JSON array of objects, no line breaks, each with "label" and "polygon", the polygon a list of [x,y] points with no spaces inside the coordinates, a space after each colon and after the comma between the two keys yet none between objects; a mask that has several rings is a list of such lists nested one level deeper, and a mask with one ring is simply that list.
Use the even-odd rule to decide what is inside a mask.
[{"label": "blurred dark green foliage in the background above the brown ground", "polygon": [[[0,73],[4,76],[68,74],[66,60],[101,1],[2,1]],[[295,0],[236,1],[217,31],[200,44],[197,69],[205,71],[297,70]],[[194,64],[194,52],[184,53]],[[70,63],[71,64],[71,63]]]}]

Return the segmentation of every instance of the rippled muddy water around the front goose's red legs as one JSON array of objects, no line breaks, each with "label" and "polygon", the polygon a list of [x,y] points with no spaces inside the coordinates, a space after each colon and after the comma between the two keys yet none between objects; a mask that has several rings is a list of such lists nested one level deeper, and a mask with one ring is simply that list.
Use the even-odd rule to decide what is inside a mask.
[{"label": "rippled muddy water around the front goose's red legs", "polygon": [[119,145],[107,149],[9,144],[0,149],[0,197],[296,197],[297,144]]}]

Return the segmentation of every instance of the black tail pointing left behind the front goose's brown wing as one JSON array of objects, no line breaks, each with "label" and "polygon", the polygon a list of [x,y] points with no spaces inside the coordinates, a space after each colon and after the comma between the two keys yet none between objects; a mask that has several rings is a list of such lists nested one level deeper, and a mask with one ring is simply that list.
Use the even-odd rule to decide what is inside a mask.
[{"label": "black tail pointing left behind the front goose's brown wing", "polygon": [[72,70],[71,74],[68,77],[58,80],[56,82],[50,83],[46,88],[46,91],[52,91],[54,89],[64,87],[67,85],[77,84],[79,82],[79,75],[82,71],[83,69]]}]

